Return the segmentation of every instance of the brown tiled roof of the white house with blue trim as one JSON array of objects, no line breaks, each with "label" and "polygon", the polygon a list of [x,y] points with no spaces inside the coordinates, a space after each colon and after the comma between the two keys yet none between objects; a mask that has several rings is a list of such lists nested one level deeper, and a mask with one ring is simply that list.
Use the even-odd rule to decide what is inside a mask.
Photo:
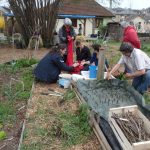
[{"label": "brown tiled roof of the white house with blue trim", "polygon": [[59,14],[113,17],[114,15],[95,0],[63,0]]}]

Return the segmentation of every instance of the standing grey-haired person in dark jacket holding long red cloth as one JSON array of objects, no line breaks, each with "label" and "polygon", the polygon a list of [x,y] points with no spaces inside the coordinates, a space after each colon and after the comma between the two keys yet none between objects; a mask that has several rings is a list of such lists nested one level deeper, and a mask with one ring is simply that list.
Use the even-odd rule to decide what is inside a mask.
[{"label": "standing grey-haired person in dark jacket holding long red cloth", "polygon": [[67,55],[64,56],[64,61],[68,66],[73,64],[73,41],[75,37],[72,21],[69,18],[65,18],[64,25],[59,29],[59,40],[60,43],[67,44]]}]

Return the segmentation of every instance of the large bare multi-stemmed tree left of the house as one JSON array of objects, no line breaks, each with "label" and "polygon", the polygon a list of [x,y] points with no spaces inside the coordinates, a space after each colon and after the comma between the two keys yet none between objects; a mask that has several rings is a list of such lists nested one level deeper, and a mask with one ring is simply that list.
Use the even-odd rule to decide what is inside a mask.
[{"label": "large bare multi-stemmed tree left of the house", "polygon": [[8,0],[21,28],[26,46],[33,33],[40,32],[44,46],[51,43],[62,0]]}]

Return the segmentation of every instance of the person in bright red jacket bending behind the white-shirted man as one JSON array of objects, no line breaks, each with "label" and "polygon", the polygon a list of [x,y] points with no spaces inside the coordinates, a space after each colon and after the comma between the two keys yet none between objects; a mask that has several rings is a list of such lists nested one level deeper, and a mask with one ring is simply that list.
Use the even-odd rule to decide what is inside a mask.
[{"label": "person in bright red jacket bending behind the white-shirted man", "polygon": [[123,27],[123,42],[129,42],[134,48],[141,48],[136,29],[126,21],[122,21],[120,25]]}]

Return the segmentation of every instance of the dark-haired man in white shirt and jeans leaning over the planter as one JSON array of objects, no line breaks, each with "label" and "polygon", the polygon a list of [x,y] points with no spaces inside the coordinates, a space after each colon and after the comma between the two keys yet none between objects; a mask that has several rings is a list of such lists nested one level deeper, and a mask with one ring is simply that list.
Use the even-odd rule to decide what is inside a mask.
[{"label": "dark-haired man in white shirt and jeans leaning over the planter", "polygon": [[150,58],[140,49],[133,48],[128,42],[120,46],[122,56],[119,62],[107,73],[110,79],[112,73],[117,71],[121,64],[125,65],[125,77],[133,79],[132,86],[142,95],[150,86]]}]

